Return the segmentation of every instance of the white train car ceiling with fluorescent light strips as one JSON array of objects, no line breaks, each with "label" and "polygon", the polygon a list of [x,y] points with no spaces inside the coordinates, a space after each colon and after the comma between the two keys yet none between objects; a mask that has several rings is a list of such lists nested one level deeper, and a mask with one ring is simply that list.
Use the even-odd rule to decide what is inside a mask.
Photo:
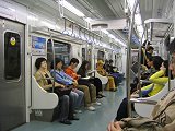
[{"label": "white train car ceiling with fluorescent light strips", "polygon": [[[63,9],[60,7],[60,0],[14,0],[20,3],[26,4],[30,7],[30,10],[42,9],[50,19],[55,20],[55,22],[60,22],[61,16],[66,16],[72,20],[74,23],[80,24],[89,29],[91,29],[91,21],[96,20],[121,20],[127,19],[130,15],[131,8],[133,7],[135,0],[69,0],[66,1],[65,5],[60,3]],[[139,39],[143,33],[143,22],[148,19],[167,19],[172,17],[172,4],[173,0],[140,0],[139,8],[137,10],[137,14],[135,15],[135,33],[132,36],[132,48],[138,47]],[[128,12],[126,12],[126,3],[128,3]],[[70,12],[70,5],[72,5],[73,10]],[[37,7],[36,9],[33,7]],[[39,10],[36,10],[37,13],[43,13]],[[35,11],[35,12],[36,12]],[[73,13],[72,13],[73,12]],[[165,13],[163,13],[165,12]],[[63,14],[61,14],[63,13]],[[51,14],[51,16],[50,16]],[[55,23],[55,24],[56,24]],[[62,22],[59,23],[62,25]],[[103,23],[106,24],[106,23]],[[58,27],[59,28],[59,27]],[[100,27],[101,28],[101,27]],[[94,33],[104,36],[107,32],[108,43],[114,43],[114,45],[126,46],[128,38],[128,24],[121,29],[109,29],[109,31],[93,31]],[[106,38],[104,38],[106,39]]]}]

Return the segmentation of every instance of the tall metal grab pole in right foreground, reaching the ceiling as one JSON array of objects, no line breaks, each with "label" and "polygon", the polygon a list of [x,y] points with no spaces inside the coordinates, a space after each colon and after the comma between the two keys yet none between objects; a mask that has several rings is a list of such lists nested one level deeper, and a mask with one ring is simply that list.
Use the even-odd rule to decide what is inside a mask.
[{"label": "tall metal grab pole in right foreground, reaching the ceiling", "polygon": [[131,12],[131,23],[130,23],[130,28],[129,28],[129,37],[128,37],[128,44],[127,44],[127,99],[128,99],[128,115],[129,117],[131,116],[131,103],[130,103],[130,56],[131,56],[131,38],[132,38],[132,32],[133,32],[133,23],[135,23],[135,12],[138,7],[139,1],[136,0],[133,10]]}]

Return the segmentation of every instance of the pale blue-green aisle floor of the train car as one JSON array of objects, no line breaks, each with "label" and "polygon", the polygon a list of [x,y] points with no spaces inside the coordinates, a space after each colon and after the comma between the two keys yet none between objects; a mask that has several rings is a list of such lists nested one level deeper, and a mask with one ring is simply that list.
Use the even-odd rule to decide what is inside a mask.
[{"label": "pale blue-green aisle floor of the train car", "polygon": [[13,131],[106,131],[107,124],[116,115],[120,102],[126,96],[125,81],[118,86],[117,92],[104,92],[102,106],[95,106],[96,111],[83,110],[78,114],[79,121],[72,121],[71,126],[61,124],[58,121],[40,122],[32,121]]}]

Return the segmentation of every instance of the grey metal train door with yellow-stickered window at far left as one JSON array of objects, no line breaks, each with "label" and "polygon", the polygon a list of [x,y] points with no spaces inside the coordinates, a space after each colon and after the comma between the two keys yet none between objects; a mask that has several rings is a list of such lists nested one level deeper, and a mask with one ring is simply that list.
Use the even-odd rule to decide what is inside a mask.
[{"label": "grey metal train door with yellow-stickered window at far left", "polygon": [[0,131],[25,122],[24,25],[0,19]]}]

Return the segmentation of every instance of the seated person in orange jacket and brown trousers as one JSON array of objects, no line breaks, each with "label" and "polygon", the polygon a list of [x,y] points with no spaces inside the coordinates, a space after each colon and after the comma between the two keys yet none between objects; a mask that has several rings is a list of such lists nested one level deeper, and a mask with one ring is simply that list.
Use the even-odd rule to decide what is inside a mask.
[{"label": "seated person in orange jacket and brown trousers", "polygon": [[[69,67],[65,70],[65,72],[70,75],[71,78],[73,78],[73,81],[75,83],[78,83],[78,80],[81,78],[80,75],[78,75],[74,71],[74,69],[77,68],[77,66],[79,64],[79,60],[75,58],[72,58],[70,60]],[[95,108],[92,106],[91,103],[91,96],[90,96],[90,90],[86,85],[79,85],[78,84],[78,88],[82,90],[84,92],[84,105],[89,110],[94,111]],[[92,99],[95,99],[96,96],[93,96]]]}]

